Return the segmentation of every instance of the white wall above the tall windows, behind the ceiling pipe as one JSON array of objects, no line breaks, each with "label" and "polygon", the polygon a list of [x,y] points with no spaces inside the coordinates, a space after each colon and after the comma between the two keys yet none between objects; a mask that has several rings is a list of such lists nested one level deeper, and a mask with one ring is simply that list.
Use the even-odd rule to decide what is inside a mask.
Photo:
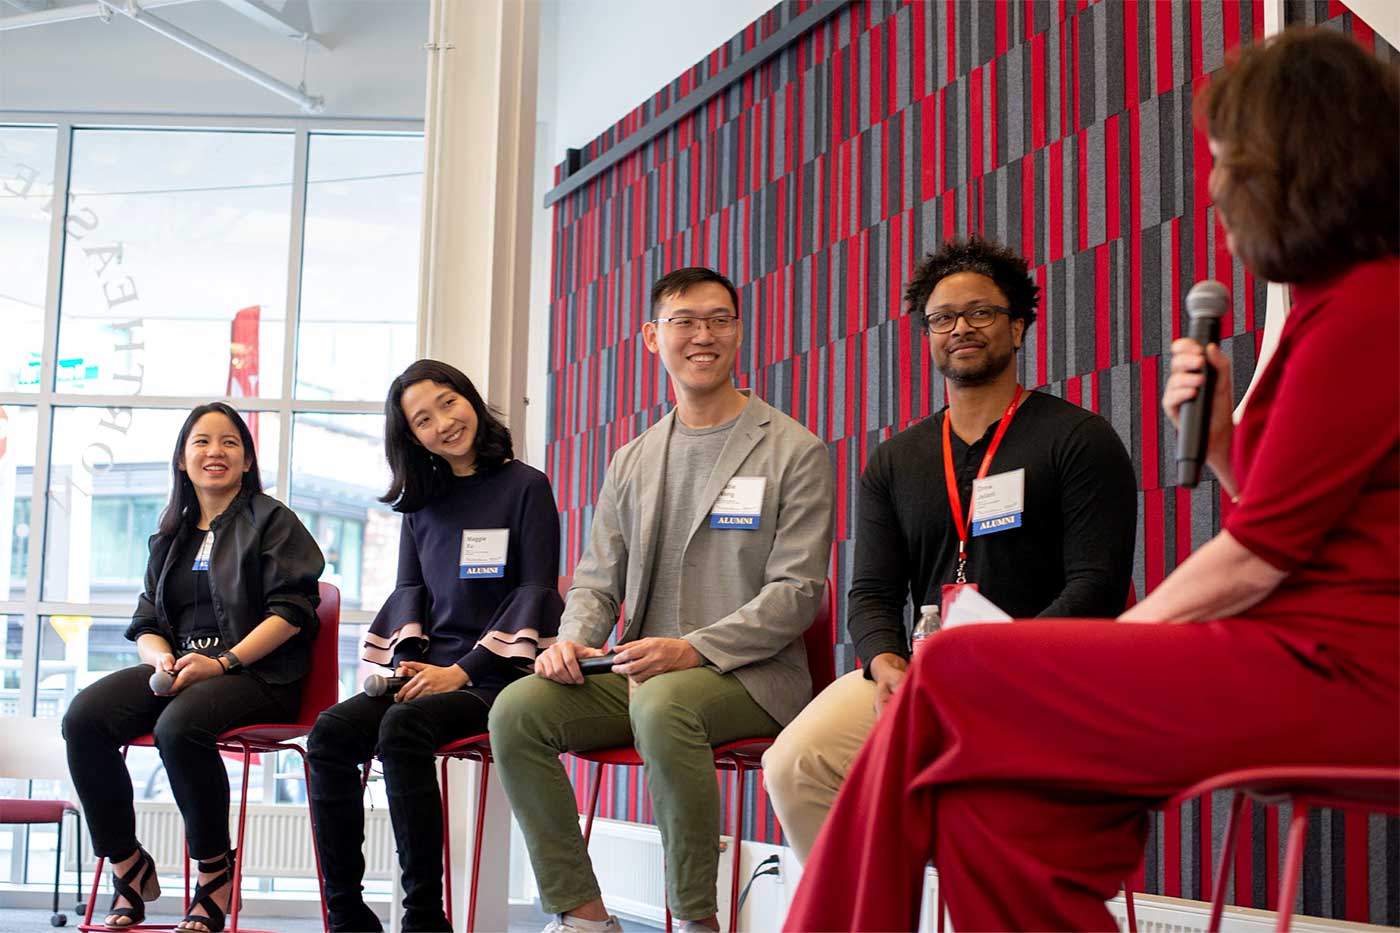
[{"label": "white wall above the tall windows, behind the ceiling pipe", "polygon": [[[427,10],[427,0],[311,3],[312,28],[330,46],[311,46],[305,59],[307,91],[326,98],[323,116],[423,119]],[[287,84],[301,81],[300,41],[217,0],[153,13]],[[0,118],[4,111],[301,115],[122,15],[0,31]]]}]

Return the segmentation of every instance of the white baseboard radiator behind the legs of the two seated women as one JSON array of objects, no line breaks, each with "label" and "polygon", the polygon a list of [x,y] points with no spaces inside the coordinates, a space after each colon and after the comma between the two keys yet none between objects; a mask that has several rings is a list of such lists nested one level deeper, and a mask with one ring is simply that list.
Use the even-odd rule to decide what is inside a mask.
[{"label": "white baseboard radiator behind the legs of the two seated women", "polygon": [[[238,806],[230,807],[228,838],[238,834]],[[154,856],[157,870],[165,876],[185,871],[185,824],[174,803],[139,801],[136,836]],[[365,810],[364,860],[367,881],[388,881],[398,863],[393,831],[386,808]],[[95,859],[84,839],[83,870],[91,871]],[[63,846],[64,869],[77,869],[77,848]],[[255,878],[315,878],[316,862],[311,843],[311,821],[305,804],[249,804],[244,832],[244,876]]]}]

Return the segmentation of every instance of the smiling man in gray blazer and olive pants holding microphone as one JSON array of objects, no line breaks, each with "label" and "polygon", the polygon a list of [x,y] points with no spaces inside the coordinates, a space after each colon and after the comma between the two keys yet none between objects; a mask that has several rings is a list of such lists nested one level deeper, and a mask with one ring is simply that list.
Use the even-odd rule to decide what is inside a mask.
[{"label": "smiling man in gray blazer and olive pants holding microphone", "polygon": [[[666,898],[718,929],[711,747],[777,735],[812,693],[802,632],[832,549],[832,466],[811,431],[734,387],[738,294],[710,269],[651,290],[643,340],[676,408],[619,450],[574,570],[559,640],[491,707],[491,747],[546,930],[615,930],[561,752],[636,745],[666,857]],[[585,677],[623,611],[610,671]]]}]

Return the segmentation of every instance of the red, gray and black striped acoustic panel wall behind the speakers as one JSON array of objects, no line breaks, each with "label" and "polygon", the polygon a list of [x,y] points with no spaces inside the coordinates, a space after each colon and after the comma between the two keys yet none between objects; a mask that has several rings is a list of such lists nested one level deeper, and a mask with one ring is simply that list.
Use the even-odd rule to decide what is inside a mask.
[{"label": "red, gray and black striped acoustic panel wall behind the speakers", "polygon": [[[671,405],[640,336],[648,289],[676,266],[710,265],[739,290],[738,381],[827,444],[830,573],[844,594],[869,451],[944,401],[903,283],[945,238],[979,233],[1018,248],[1044,290],[1022,381],[1102,413],[1133,452],[1134,581],[1149,591],[1218,531],[1222,511],[1214,482],[1175,485],[1158,405],[1186,290],[1205,277],[1231,286],[1222,345],[1236,396],[1263,333],[1264,284],[1225,249],[1210,151],[1191,122],[1193,94],[1228,52],[1261,38],[1263,0],[832,6],[819,27],[556,205],[546,468],[561,572],[582,551],[608,458]],[[809,7],[773,8],[588,143],[585,163]],[[1394,56],[1340,3],[1289,3],[1287,18]],[[850,670],[844,598],[837,630],[837,665]],[[574,776],[582,804],[587,775],[575,765]],[[721,787],[728,807],[732,780]],[[638,773],[609,773],[602,801],[602,815],[651,818]],[[1226,804],[1155,815],[1140,884],[1208,897]],[[743,806],[748,838],[780,841],[760,789]],[[1247,821],[1233,902],[1274,906],[1288,817],[1256,808]],[[1400,920],[1396,821],[1329,814],[1312,832],[1301,908]]]}]

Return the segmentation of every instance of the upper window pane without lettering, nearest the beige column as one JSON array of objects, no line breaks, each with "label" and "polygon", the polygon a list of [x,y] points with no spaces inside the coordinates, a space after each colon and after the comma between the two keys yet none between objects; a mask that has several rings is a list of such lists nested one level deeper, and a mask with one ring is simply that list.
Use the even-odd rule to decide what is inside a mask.
[{"label": "upper window pane without lettering, nearest the beige column", "polygon": [[297,396],[381,399],[417,347],[421,136],[311,137]]}]

